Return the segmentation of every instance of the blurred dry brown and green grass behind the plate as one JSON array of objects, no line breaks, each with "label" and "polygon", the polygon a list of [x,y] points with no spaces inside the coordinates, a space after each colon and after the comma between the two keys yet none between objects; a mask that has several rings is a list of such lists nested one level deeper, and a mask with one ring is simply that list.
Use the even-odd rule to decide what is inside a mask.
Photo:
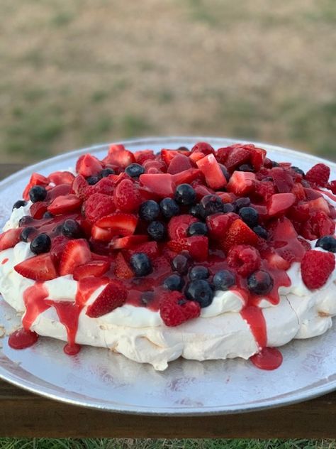
[{"label": "blurred dry brown and green grass behind the plate", "polygon": [[193,134],[336,158],[335,26],[335,0],[1,0],[1,161]]}]

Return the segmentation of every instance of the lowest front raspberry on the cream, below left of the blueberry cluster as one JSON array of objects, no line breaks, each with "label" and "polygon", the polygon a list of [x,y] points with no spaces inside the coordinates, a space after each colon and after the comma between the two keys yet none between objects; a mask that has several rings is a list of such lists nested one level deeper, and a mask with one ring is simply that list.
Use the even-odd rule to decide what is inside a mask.
[{"label": "lowest front raspberry on the cream, below left of the blueberry cluster", "polygon": [[196,301],[188,301],[179,291],[166,293],[159,314],[166,326],[179,326],[192,318],[198,318],[201,307]]}]

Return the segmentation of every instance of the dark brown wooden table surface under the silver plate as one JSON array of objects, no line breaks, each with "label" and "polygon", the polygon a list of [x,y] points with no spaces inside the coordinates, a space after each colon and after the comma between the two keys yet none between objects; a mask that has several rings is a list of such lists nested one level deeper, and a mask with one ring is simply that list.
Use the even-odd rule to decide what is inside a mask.
[{"label": "dark brown wooden table surface under the silver plate", "polygon": [[[21,168],[0,165],[0,178]],[[0,436],[127,438],[336,438],[336,392],[238,415],[152,417],[83,409],[0,381]]]}]

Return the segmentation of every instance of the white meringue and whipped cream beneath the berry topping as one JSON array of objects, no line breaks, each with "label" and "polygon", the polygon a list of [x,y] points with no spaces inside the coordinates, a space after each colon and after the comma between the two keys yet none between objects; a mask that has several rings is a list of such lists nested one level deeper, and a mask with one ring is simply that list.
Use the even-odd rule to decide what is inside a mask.
[{"label": "white meringue and whipped cream beneath the berry topping", "polygon": [[[18,220],[28,215],[28,211],[29,205],[14,209],[4,230],[18,227]],[[23,314],[26,311],[23,293],[35,281],[16,273],[13,267],[33,255],[25,242],[0,252],[0,291],[5,301]],[[266,322],[269,347],[285,345],[294,338],[321,335],[331,327],[332,316],[336,315],[336,269],[325,286],[317,291],[306,288],[300,264],[293,264],[287,273],[291,286],[279,289],[279,304],[271,305],[266,299],[259,304]],[[72,302],[77,284],[71,275],[43,283],[51,300]],[[102,290],[103,286],[91,294],[79,315],[76,335],[79,344],[107,347],[136,362],[150,363],[157,370],[167,368],[169,361],[179,357],[198,361],[248,359],[259,351],[250,326],[240,315],[244,301],[234,291],[216,291],[213,303],[201,309],[200,318],[169,328],[158,312],[128,304],[99,318],[89,318],[87,305],[93,303]],[[31,330],[67,341],[65,326],[52,307],[38,315]]]}]

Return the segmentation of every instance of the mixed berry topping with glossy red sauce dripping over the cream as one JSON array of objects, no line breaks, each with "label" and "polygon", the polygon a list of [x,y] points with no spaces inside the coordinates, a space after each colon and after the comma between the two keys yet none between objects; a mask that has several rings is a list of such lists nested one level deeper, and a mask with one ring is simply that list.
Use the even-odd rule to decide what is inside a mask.
[{"label": "mixed berry topping with glossy red sauce dripping over the cream", "polygon": [[[27,227],[33,231],[27,229],[25,242],[47,234],[51,247],[45,238],[39,252],[35,241],[37,255],[15,268],[36,282],[24,292],[23,330],[11,335],[9,345],[33,344],[38,336],[31,326],[40,313],[54,308],[67,331],[65,352],[77,354],[79,315],[101,286],[106,290],[86,309],[90,318],[130,304],[159,311],[167,326],[197,319],[213,297],[210,293],[204,305],[201,298],[185,293],[197,292],[196,284],[187,290],[189,271],[201,266],[206,278],[197,286],[210,286],[210,292],[221,289],[213,285],[215,274],[230,271],[230,290],[242,298],[240,314],[259,351],[251,358],[253,364],[279,367],[282,357],[267,348],[259,303],[266,299],[278,304],[279,288],[291,285],[287,270],[303,261],[308,241],[334,234],[336,211],[322,193],[330,200],[335,195],[321,189],[335,183],[328,184],[329,169],[323,164],[304,175],[266,156],[253,145],[215,151],[199,143],[191,151],[163,149],[157,154],[133,154],[112,145],[103,161],[81,156],[77,176],[33,173],[23,193],[33,201],[33,217],[23,217],[19,230],[2,234],[0,249],[18,243]],[[169,283],[164,287],[173,273],[179,276],[179,293],[169,291]],[[52,300],[44,281],[67,274],[77,281],[75,301]],[[174,315],[177,308],[179,318]]]}]

